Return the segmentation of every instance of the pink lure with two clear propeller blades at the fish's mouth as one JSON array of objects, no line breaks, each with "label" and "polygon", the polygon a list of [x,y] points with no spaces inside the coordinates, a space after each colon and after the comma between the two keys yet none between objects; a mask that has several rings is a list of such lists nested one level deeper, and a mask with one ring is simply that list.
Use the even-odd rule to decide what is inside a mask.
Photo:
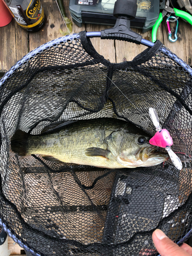
[{"label": "pink lure with two clear propeller blades at the fish's mouth", "polygon": [[157,133],[155,134],[155,136],[150,140],[150,144],[164,147],[165,150],[168,152],[168,155],[172,160],[173,164],[175,165],[175,167],[181,170],[183,167],[182,162],[179,159],[179,157],[170,148],[170,146],[173,145],[172,137],[170,137],[170,134],[166,129],[163,129],[163,130],[161,129],[161,126],[159,124],[159,117],[157,115],[156,110],[153,108],[150,108],[148,113],[157,130]]}]

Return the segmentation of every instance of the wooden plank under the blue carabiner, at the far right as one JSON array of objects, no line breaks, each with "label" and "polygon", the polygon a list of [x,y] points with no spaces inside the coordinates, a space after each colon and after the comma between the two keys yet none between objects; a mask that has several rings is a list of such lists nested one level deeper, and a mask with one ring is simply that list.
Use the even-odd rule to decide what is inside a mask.
[{"label": "wooden plank under the blue carabiner, at the far right", "polygon": [[[171,31],[175,31],[176,23],[169,23]],[[166,18],[163,19],[163,37],[164,45],[170,51],[177,54],[179,58],[183,59],[188,65],[192,65],[192,26],[189,23],[179,19],[178,40],[170,42],[168,39],[168,31],[166,28]]]}]

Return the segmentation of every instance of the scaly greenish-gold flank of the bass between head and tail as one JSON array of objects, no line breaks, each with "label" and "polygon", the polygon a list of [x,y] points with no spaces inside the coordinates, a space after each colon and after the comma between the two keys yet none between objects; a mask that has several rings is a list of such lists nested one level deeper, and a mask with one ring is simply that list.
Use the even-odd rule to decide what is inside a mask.
[{"label": "scaly greenish-gold flank of the bass between head and tail", "polygon": [[113,156],[109,160],[86,155],[86,149],[89,147],[107,150],[106,137],[126,126],[124,121],[120,121],[114,129],[114,122],[102,119],[99,122],[97,119],[80,120],[78,123],[67,125],[66,130],[57,133],[31,135],[28,139],[27,154],[50,155],[67,163],[122,168]]}]

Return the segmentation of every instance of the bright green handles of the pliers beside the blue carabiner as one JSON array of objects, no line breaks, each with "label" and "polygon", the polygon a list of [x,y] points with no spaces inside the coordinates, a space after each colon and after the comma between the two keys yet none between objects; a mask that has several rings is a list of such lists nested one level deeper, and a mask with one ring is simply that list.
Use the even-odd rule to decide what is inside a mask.
[{"label": "bright green handles of the pliers beside the blue carabiner", "polygon": [[156,36],[157,36],[157,29],[158,29],[159,25],[161,24],[161,22],[163,20],[163,17],[165,15],[169,17],[172,14],[187,20],[187,22],[190,23],[190,25],[192,25],[192,16],[189,13],[187,13],[187,12],[178,10],[176,8],[170,8],[169,7],[169,0],[167,0],[166,4],[164,6],[163,11],[160,12],[159,18],[157,19],[155,25],[153,26],[153,29],[152,29],[152,41],[153,42],[155,42],[156,39],[157,39],[156,38]]}]

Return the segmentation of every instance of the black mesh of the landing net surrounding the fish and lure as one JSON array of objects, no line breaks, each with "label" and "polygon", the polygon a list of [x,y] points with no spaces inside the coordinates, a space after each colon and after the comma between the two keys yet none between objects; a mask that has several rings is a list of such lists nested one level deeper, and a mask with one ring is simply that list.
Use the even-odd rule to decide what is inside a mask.
[{"label": "black mesh of the landing net surrounding the fish and lure", "polygon": [[[35,255],[158,255],[156,228],[175,242],[192,228],[191,71],[159,41],[133,61],[115,64],[83,35],[38,48],[2,78],[1,220]],[[62,120],[120,118],[153,136],[150,107],[173,137],[181,171],[170,159],[107,169],[11,151],[17,129],[37,135]]]}]

